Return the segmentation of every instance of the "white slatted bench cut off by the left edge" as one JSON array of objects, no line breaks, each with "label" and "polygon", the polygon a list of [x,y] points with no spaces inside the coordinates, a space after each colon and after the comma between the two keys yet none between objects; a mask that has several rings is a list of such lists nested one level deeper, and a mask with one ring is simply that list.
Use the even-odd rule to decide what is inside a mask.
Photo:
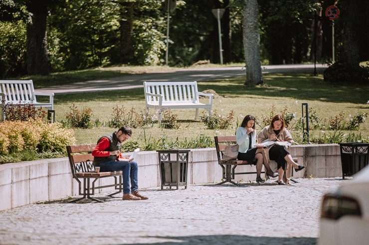
[{"label": "white slatted bench cut off by the left edge", "polygon": [[[36,95],[49,96],[49,102],[40,103],[36,100]],[[55,120],[54,93],[36,92],[33,88],[32,80],[0,80],[0,109],[1,120],[4,120],[3,106],[6,104],[19,104],[26,106],[32,104],[34,107],[48,109],[47,117],[51,116]]]}]

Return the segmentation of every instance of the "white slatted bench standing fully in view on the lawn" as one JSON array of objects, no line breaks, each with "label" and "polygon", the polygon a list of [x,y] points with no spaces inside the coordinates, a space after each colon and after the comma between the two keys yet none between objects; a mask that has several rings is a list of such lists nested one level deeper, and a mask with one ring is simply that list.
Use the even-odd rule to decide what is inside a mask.
[{"label": "white slatted bench standing fully in view on the lawn", "polygon": [[[198,109],[203,108],[212,114],[212,93],[197,90],[197,82],[144,82],[146,110],[149,107],[159,109],[158,121],[162,121],[162,111],[174,108],[195,108],[195,120]],[[209,103],[199,102],[199,95],[209,98]]]}]

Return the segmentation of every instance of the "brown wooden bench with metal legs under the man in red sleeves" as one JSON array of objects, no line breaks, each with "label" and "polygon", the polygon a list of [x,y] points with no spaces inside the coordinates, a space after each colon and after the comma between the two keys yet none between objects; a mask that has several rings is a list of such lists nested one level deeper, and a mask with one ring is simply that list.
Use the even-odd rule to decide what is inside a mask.
[{"label": "brown wooden bench with metal legs under the man in red sleeves", "polygon": [[[83,197],[73,200],[72,202],[77,202],[85,198],[97,202],[103,202],[91,196],[95,194],[95,189],[115,187],[115,190],[118,190],[117,192],[114,192],[108,196],[113,196],[123,191],[122,171],[96,172],[93,164],[94,157],[91,154],[95,147],[96,144],[67,146],[67,153],[72,175],[73,178],[78,182],[79,195],[83,195]],[[96,181],[98,179],[107,177],[113,177],[114,184],[96,185]],[[83,184],[80,179],[83,179]]]}]

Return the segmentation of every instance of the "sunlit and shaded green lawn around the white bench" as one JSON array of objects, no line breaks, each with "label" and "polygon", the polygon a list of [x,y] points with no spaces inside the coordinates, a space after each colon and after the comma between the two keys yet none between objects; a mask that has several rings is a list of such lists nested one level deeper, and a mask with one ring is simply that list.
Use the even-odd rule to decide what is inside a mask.
[{"label": "sunlit and shaded green lawn around the white bench", "polygon": [[[136,71],[136,73],[140,73],[140,71]],[[132,72],[127,72],[127,74],[132,74]],[[106,73],[103,75],[106,77]],[[58,75],[53,76],[57,77]],[[95,79],[98,78],[96,73],[93,76]],[[349,115],[354,116],[355,113],[369,113],[368,86],[327,83],[323,81],[322,76],[314,77],[310,74],[267,74],[263,77],[265,85],[253,87],[244,86],[244,78],[198,82],[199,91],[206,89],[215,91],[213,109],[218,114],[226,116],[231,110],[234,111],[234,121],[230,129],[208,130],[200,120],[193,120],[194,109],[176,109],[171,110],[171,112],[178,115],[181,124],[179,129],[161,129],[158,124],[154,124],[153,127],[145,128],[145,130],[142,128],[133,129],[132,139],[144,141],[144,134],[147,138],[151,136],[156,139],[160,137],[175,139],[178,137],[180,140],[193,139],[200,134],[211,138],[215,135],[234,134],[237,120],[240,123],[245,115],[253,114],[260,124],[262,118],[271,113],[273,105],[275,113],[279,114],[284,108],[287,108],[288,112],[296,113],[296,119],[298,119],[302,116],[301,104],[308,103],[309,107],[313,109],[312,113],[315,113],[321,123],[326,126],[329,125],[329,120],[339,115],[340,112],[344,113],[345,120],[349,120]],[[85,80],[87,79],[89,80],[90,77],[85,78]],[[124,106],[127,111],[134,108],[138,113],[144,111],[145,107],[143,88],[115,90],[109,95],[107,92],[57,94],[54,98],[57,121],[65,121],[66,113],[71,111],[69,106],[72,102],[78,106],[79,110],[91,108],[93,111],[92,121],[98,119],[100,122],[107,122],[112,118],[112,109],[116,105]],[[153,109],[149,112],[155,113]],[[294,125],[294,121],[292,124]],[[257,131],[260,129],[260,126],[257,126]],[[359,131],[351,132],[361,133],[364,138],[368,139],[368,129],[369,120],[361,124]],[[77,144],[95,143],[99,136],[112,131],[114,129],[104,127],[75,129],[75,137]],[[301,140],[302,131],[291,129],[291,133],[297,141]],[[332,133],[334,132],[330,132],[327,127],[311,130],[312,137]]]}]

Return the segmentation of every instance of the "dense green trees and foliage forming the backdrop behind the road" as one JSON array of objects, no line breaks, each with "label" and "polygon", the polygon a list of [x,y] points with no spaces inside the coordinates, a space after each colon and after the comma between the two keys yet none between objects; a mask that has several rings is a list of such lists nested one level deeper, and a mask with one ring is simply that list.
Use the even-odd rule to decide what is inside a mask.
[{"label": "dense green trees and foliage forming the backdrop behind the road", "polygon": [[[2,0],[0,77],[113,64],[164,65],[167,32],[164,1]],[[170,13],[170,66],[189,66],[203,60],[219,63],[218,26],[211,13],[215,8],[225,9],[221,19],[225,63],[245,61],[244,0],[176,2],[176,9]],[[255,33],[260,34],[260,48],[254,49],[259,50],[261,62],[312,61],[312,15],[317,10],[324,13],[336,1],[258,0],[257,3],[259,29]],[[341,15],[335,26],[337,56],[346,61],[353,59],[357,66],[358,60],[368,60],[369,56],[369,32],[358,28],[368,26],[365,17],[369,8],[364,7],[368,1],[341,0],[338,6]],[[324,16],[319,20],[318,62],[331,56],[330,24]],[[357,45],[355,50],[359,53],[349,51],[348,43],[352,47]],[[359,59],[354,57],[357,54]]]}]

